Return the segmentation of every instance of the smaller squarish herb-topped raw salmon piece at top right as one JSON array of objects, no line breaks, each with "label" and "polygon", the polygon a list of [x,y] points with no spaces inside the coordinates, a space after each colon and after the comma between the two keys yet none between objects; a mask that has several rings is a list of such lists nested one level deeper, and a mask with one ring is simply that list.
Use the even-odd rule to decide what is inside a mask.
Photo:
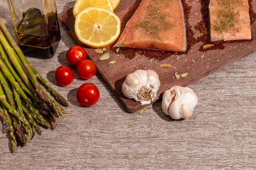
[{"label": "smaller squarish herb-topped raw salmon piece at top right", "polygon": [[248,0],[211,0],[211,41],[252,39]]}]

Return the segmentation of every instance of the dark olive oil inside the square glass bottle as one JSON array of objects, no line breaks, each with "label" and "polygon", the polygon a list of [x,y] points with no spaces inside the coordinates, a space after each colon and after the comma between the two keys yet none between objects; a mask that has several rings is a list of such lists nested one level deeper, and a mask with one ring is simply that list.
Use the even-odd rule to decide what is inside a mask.
[{"label": "dark olive oil inside the square glass bottle", "polygon": [[56,13],[42,14],[37,8],[29,8],[15,29],[18,45],[31,57],[52,57],[60,41],[60,26]]}]

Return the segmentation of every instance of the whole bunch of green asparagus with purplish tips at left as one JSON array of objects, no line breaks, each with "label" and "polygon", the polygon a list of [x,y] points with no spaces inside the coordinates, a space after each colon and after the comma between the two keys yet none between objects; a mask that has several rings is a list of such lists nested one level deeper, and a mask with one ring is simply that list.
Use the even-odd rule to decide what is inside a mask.
[{"label": "whole bunch of green asparagus with purplish tips at left", "polygon": [[[10,132],[12,152],[26,145],[39,125],[54,129],[56,117],[67,113],[67,101],[26,59],[0,18],[0,120],[2,132]],[[46,90],[54,96],[52,98]],[[56,101],[58,101],[58,104]]]}]

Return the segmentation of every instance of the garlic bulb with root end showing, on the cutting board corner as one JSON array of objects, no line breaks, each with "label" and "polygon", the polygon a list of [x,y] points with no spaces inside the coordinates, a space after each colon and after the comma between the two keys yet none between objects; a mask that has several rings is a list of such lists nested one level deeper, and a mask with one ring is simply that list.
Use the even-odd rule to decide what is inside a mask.
[{"label": "garlic bulb with root end showing, on the cutting board corner", "polygon": [[160,86],[156,71],[138,69],[129,74],[122,85],[124,96],[142,104],[150,104],[156,98]]}]

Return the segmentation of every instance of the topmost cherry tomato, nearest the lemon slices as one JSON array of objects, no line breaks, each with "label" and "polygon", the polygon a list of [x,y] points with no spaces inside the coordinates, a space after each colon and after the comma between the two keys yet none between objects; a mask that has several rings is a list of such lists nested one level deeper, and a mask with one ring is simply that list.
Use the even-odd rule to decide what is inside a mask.
[{"label": "topmost cherry tomato, nearest the lemon slices", "polygon": [[77,66],[84,59],[86,59],[86,52],[82,46],[72,46],[66,53],[66,60],[71,66]]}]

